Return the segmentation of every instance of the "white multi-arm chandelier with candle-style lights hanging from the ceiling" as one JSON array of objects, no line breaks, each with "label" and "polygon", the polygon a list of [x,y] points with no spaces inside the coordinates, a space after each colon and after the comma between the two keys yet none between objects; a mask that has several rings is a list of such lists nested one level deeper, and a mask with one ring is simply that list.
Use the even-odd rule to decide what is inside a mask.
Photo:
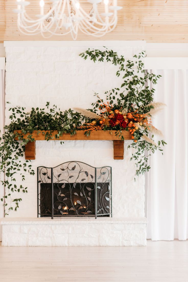
[{"label": "white multi-arm chandelier with candle-style lights hanging from the ceiling", "polygon": [[79,0],[40,0],[40,14],[32,19],[26,11],[30,10],[29,4],[28,1],[17,0],[17,10],[14,10],[22,33],[41,33],[44,38],[70,33],[74,40],[78,30],[96,37],[112,31],[117,25],[117,11],[122,8],[117,6],[117,0],[82,0],[82,3]]}]

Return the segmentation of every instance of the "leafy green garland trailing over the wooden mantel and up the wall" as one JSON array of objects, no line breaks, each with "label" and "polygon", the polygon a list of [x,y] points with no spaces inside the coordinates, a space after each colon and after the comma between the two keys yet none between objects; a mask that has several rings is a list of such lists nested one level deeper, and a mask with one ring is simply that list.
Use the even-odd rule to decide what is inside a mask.
[{"label": "leafy green garland trailing over the wooden mantel and up the wall", "polygon": [[[29,141],[34,141],[32,138],[33,131],[48,131],[44,133],[45,139],[48,141],[53,139],[52,132],[55,130],[58,132],[55,138],[58,139],[58,137],[62,136],[64,133],[75,135],[76,130],[83,130],[83,128],[85,129],[86,135],[89,135],[91,130],[99,129],[99,127],[102,130],[115,129],[117,130],[117,135],[119,135],[122,140],[122,130],[132,130],[131,134],[134,140],[128,147],[134,147],[136,149],[131,157],[131,159],[134,158],[136,162],[136,175],[143,174],[150,168],[149,165],[147,165],[148,155],[145,155],[144,152],[151,150],[154,153],[157,148],[162,151],[160,144],[163,146],[166,144],[164,140],[161,140],[158,141],[158,145],[156,145],[153,141],[153,135],[151,139],[148,137],[149,141],[142,140],[144,135],[149,136],[151,133],[150,126],[139,126],[138,128],[135,127],[136,129],[128,127],[128,122],[129,124],[131,122],[134,124],[134,114],[139,115],[139,118],[142,116],[142,119],[146,121],[147,118],[145,114],[149,113],[148,116],[151,116],[150,112],[155,108],[155,105],[152,104],[155,89],[149,89],[146,83],[149,80],[152,81],[153,84],[156,84],[160,76],[149,74],[144,70],[144,63],[142,62],[144,52],[141,52],[138,56],[135,55],[135,61],[127,60],[126,63],[124,56],[118,57],[116,52],[108,49],[104,51],[88,49],[79,56],[84,58],[84,60],[87,58],[90,58],[94,62],[97,60],[101,62],[106,60],[114,65],[119,65],[119,70],[116,75],[118,77],[122,75],[123,83],[121,87],[105,92],[107,104],[95,93],[97,101],[92,103],[92,109],[89,109],[89,113],[98,114],[98,112],[100,112],[99,119],[79,113],[79,111],[75,112],[71,109],[62,112],[60,109],[57,109],[55,105],[50,108],[49,102],[46,104],[46,109],[32,108],[29,113],[25,112],[24,107],[10,107],[11,123],[5,126],[5,133],[0,138],[0,173],[1,175],[5,175],[1,183],[6,192],[8,191],[3,197],[6,199],[6,202],[3,204],[5,206],[5,215],[8,215],[10,210],[14,209],[16,211],[19,207],[19,202],[22,200],[21,198],[13,198],[12,194],[21,191],[23,193],[28,192],[27,187],[16,185],[16,176],[21,175],[24,181],[24,172],[28,172],[31,175],[35,174],[30,161],[23,161],[23,159],[20,158],[24,156],[24,145]],[[104,124],[103,122],[103,124],[100,124],[102,120],[105,120],[104,115],[108,113],[108,109],[110,109],[112,113],[118,111],[119,116],[123,115],[124,111],[125,122],[127,120],[126,127],[123,126],[123,123],[120,123],[122,126],[115,124],[113,127],[111,127],[109,123]],[[106,113],[104,113],[105,110]],[[131,113],[132,116],[130,116]],[[110,113],[108,113],[108,115],[109,114]],[[139,121],[139,119],[137,121]],[[21,130],[22,134],[14,134],[16,130]],[[23,135],[26,133],[30,133],[27,139],[23,138]],[[17,136],[18,140],[15,140]],[[1,198],[2,202],[3,198]]]}]

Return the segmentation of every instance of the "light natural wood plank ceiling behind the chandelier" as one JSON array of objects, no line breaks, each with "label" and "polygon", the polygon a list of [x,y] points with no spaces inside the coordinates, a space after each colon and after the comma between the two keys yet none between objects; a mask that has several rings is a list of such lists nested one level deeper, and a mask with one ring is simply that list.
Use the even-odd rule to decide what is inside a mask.
[{"label": "light natural wood plank ceiling behind the chandelier", "polygon": [[[47,40],[41,35],[27,36],[17,29],[13,9],[15,0],[0,0],[0,42],[5,40]],[[39,0],[30,0],[30,15],[39,13]],[[84,5],[86,0],[82,0]],[[147,42],[188,42],[188,0],[118,0],[115,30],[102,38],[81,32],[77,40],[146,40]],[[72,40],[70,35],[48,40]]]}]

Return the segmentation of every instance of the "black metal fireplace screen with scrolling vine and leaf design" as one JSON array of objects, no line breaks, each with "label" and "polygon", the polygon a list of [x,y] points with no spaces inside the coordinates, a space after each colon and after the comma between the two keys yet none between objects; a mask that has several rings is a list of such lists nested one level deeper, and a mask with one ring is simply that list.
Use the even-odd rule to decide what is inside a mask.
[{"label": "black metal fireplace screen with scrolling vine and leaf design", "polygon": [[112,216],[111,173],[77,161],[38,167],[38,217]]}]

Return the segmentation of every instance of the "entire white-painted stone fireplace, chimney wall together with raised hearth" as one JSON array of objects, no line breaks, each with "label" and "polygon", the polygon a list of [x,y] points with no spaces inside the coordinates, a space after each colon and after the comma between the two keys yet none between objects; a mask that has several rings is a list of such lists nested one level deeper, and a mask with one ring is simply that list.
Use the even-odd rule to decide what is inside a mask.
[{"label": "entire white-painted stone fireplace, chimney wall together with raised hearth", "polygon": [[[144,50],[145,41],[6,41],[6,102],[12,106],[43,108],[46,102],[61,110],[89,108],[94,92],[120,87],[117,67],[93,63],[79,57],[88,48],[117,51],[127,59]],[[6,124],[9,107],[6,104]],[[113,159],[112,141],[36,141],[35,172],[44,165],[55,167],[63,162],[81,161],[91,166],[112,167],[112,218],[37,219],[37,175],[26,175],[28,193],[16,212],[3,219],[3,246],[129,246],[146,245],[144,217],[144,176],[136,178],[132,151],[124,160]],[[17,183],[23,184],[19,175]]]}]

